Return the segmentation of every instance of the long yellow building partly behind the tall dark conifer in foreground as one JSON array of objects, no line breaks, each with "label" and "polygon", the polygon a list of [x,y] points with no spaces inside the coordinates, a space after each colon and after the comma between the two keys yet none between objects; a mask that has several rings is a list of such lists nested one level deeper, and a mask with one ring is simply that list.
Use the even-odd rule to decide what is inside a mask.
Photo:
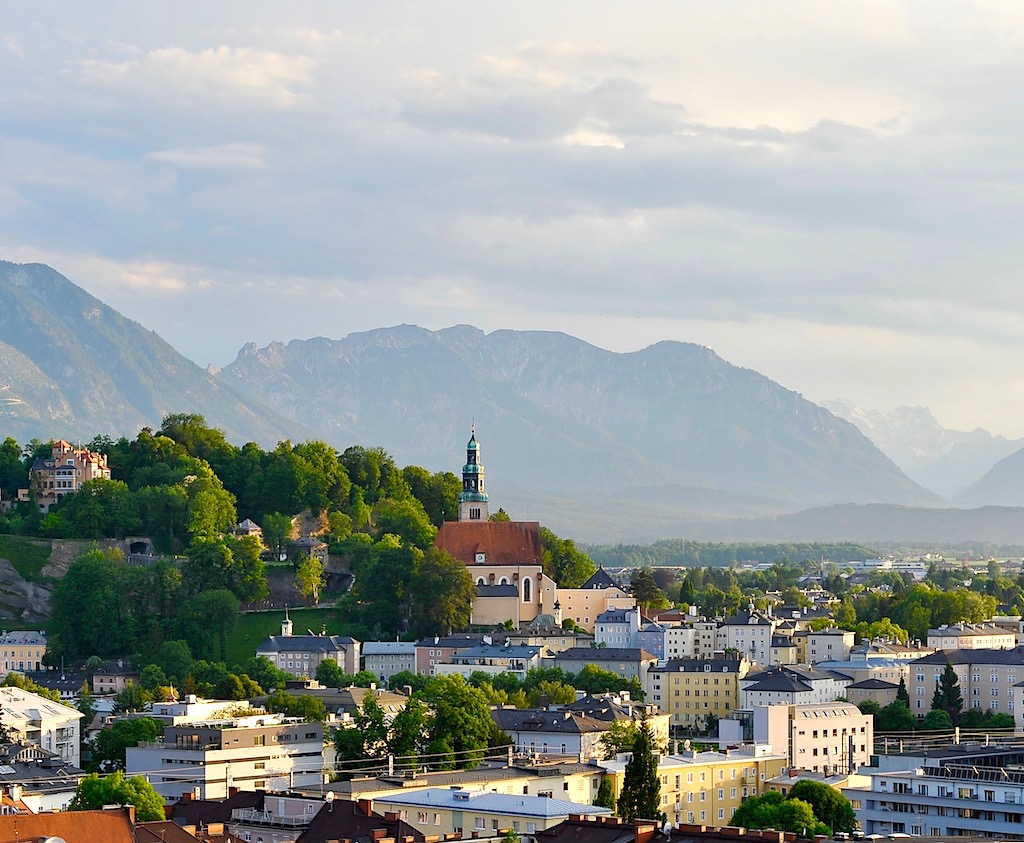
[{"label": "long yellow building partly behind the tall dark conifer in foreground", "polygon": [[[611,789],[618,798],[629,754],[603,761]],[[768,746],[743,747],[724,752],[684,752],[658,757],[662,810],[673,825],[699,823],[725,826],[745,799],[763,794],[766,782],[788,763]]]}]

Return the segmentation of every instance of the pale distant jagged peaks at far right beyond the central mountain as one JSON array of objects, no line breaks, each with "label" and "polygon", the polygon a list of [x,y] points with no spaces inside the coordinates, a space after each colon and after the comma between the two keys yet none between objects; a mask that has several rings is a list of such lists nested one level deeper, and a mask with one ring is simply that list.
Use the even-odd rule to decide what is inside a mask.
[{"label": "pale distant jagged peaks at far right beyond the central mountain", "polygon": [[1024,446],[1024,439],[1008,439],[980,427],[974,430],[943,427],[927,407],[867,410],[846,401],[824,402],[822,406],[857,425],[911,479],[926,489],[957,503],[1005,502],[1005,498],[998,496],[986,498],[983,490],[973,493],[967,490],[995,463]]}]

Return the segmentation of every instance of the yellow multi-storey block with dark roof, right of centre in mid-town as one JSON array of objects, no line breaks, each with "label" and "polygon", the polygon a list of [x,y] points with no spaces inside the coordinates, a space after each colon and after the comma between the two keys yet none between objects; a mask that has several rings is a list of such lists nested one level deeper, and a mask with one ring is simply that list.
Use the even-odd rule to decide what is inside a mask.
[{"label": "yellow multi-storey block with dark roof, right of centre in mid-town", "polygon": [[701,728],[708,716],[729,717],[739,708],[745,659],[672,659],[647,671],[646,701],[668,712],[674,726]]}]

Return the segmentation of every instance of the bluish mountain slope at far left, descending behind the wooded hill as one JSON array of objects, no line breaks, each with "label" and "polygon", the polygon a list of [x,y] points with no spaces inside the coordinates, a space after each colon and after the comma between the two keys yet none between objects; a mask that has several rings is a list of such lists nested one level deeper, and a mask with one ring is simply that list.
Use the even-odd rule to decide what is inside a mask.
[{"label": "bluish mountain slope at far left, descending behind the wooded hill", "polygon": [[173,412],[202,413],[242,441],[303,430],[43,264],[0,261],[0,365],[3,434],[23,440],[135,435]]}]

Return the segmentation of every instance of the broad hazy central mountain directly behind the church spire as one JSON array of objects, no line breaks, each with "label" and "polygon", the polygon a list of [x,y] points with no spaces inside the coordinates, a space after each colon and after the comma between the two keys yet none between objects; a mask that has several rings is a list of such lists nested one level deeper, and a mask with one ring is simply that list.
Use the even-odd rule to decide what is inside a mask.
[{"label": "broad hazy central mountain directly behind the church spire", "polygon": [[248,345],[220,377],[434,469],[458,470],[475,417],[488,476],[515,487],[697,486],[777,510],[938,503],[853,425],[688,343],[622,354],[559,333],[397,326]]}]

